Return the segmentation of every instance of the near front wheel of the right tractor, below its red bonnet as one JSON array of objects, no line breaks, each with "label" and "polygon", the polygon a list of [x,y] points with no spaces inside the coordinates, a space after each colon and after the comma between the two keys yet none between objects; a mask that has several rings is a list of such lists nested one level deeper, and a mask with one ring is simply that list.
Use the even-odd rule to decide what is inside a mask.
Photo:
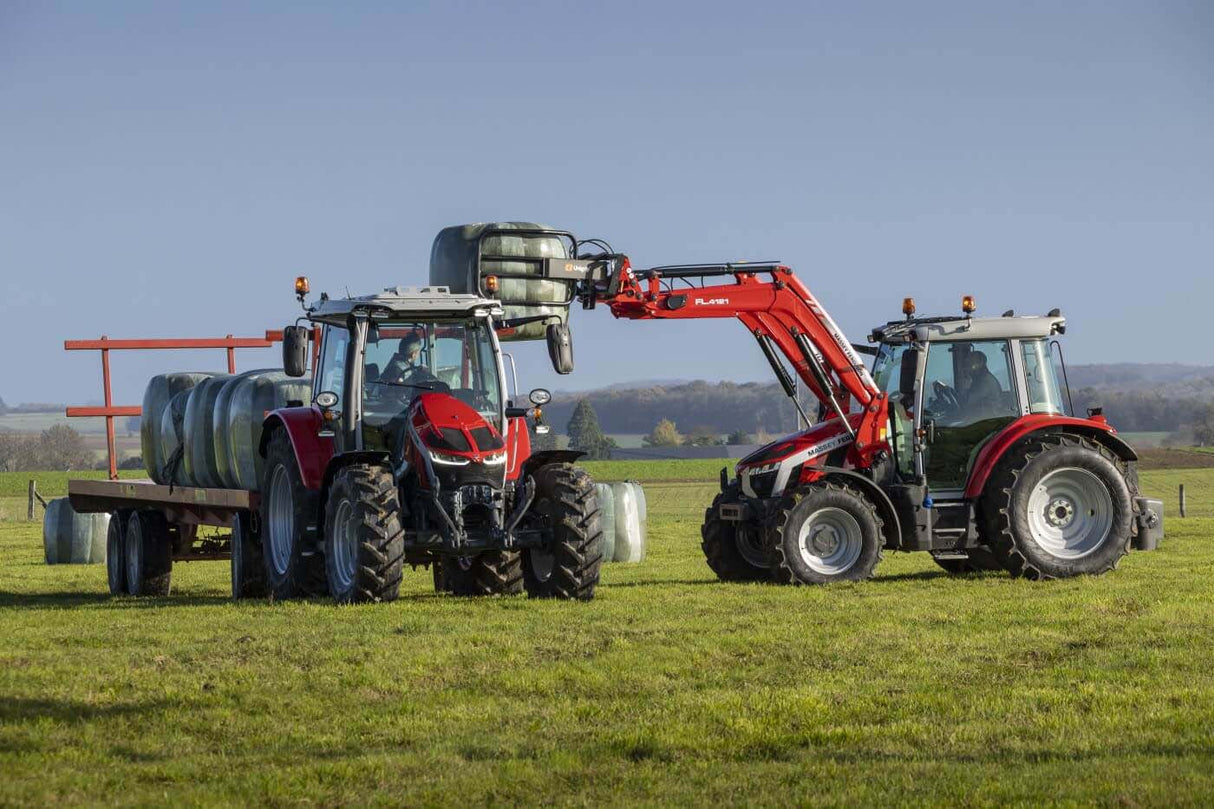
[{"label": "near front wheel of the right tractor, below its red bonnet", "polygon": [[872,578],[881,560],[881,519],[850,486],[815,483],[781,500],[770,542],[777,582],[858,582]]}]

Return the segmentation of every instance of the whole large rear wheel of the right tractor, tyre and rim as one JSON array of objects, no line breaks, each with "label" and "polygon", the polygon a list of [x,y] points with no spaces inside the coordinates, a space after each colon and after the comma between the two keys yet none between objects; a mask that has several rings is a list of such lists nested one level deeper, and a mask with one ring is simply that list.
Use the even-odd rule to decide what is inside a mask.
[{"label": "whole large rear wheel of the right tractor, tyre and rim", "polygon": [[1025,578],[1106,573],[1129,551],[1131,469],[1104,446],[1074,435],[1029,439],[991,476],[982,510],[986,539]]}]

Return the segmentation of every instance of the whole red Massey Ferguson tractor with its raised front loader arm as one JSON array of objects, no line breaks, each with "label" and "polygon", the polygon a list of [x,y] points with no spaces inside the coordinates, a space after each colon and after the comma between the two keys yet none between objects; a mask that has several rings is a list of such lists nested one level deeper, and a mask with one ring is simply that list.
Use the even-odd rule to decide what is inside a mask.
[{"label": "whole red Massey Ferguson tractor with its raised front loader arm", "polygon": [[635,270],[597,244],[580,256],[584,307],[737,318],[794,403],[785,362],[819,402],[816,424],[733,476],[721,470],[702,528],[719,578],[866,579],[884,550],[926,550],[952,573],[1063,578],[1110,571],[1162,538],[1162,503],[1139,492],[1134,449],[1099,409],[1067,414],[1057,310],[978,318],[965,296],[961,317],[917,317],[907,299],[903,319],[869,335],[875,347],[855,346],[778,262]]}]

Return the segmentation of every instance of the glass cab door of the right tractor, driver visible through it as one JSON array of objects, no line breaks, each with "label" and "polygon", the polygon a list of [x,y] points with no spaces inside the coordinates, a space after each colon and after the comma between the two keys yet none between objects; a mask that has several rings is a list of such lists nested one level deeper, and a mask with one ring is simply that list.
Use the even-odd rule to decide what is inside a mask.
[{"label": "glass cab door of the right tractor, driver visible through it", "polygon": [[1011,351],[1008,340],[929,344],[923,425],[932,491],[963,488],[977,449],[1020,417]]}]

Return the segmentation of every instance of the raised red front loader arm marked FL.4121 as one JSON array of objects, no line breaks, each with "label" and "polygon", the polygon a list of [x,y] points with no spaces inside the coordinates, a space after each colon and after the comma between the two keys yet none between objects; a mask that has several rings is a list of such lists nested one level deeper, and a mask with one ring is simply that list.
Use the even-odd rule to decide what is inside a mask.
[{"label": "raised red front loader arm marked FL.4121", "polygon": [[[792,268],[770,262],[634,270],[626,256],[608,256],[602,266],[599,279],[583,287],[584,306],[603,304],[612,315],[626,319],[737,318],[761,346],[766,340],[777,346],[824,406],[840,415],[847,412],[850,400],[863,408],[857,448],[881,440],[885,394]],[[704,284],[714,277],[731,281]],[[815,373],[815,364],[824,373]]]}]

